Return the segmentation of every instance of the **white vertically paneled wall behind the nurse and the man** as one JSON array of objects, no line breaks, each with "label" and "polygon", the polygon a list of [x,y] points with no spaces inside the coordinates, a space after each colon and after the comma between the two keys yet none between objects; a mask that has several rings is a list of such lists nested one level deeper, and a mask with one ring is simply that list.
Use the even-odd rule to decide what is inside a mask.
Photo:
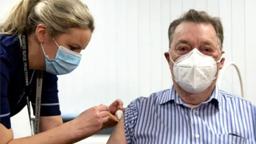
[{"label": "white vertically paneled wall behind the nurse and the man", "polygon": [[[1,20],[17,2],[1,1]],[[256,104],[255,0],[84,2],[91,9],[96,28],[79,67],[71,74],[59,76],[62,114],[79,114],[100,103],[109,105],[115,99],[122,99],[127,106],[139,96],[148,97],[150,93],[168,89],[172,81],[164,58],[168,50],[167,30],[172,20],[189,9],[204,10],[221,18],[226,64],[235,62],[238,65],[245,99]],[[233,67],[224,74],[221,89],[241,94]],[[12,118],[12,127],[16,138],[30,134],[27,108]],[[106,143],[106,140],[98,143]],[[86,143],[86,140],[79,143]],[[87,143],[97,141],[87,139]]]}]

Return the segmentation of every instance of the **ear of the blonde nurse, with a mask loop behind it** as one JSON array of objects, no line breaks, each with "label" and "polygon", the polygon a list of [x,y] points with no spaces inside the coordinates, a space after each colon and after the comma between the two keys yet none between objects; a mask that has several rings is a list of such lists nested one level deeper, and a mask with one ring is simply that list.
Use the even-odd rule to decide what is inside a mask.
[{"label": "ear of the blonde nurse, with a mask loop behind it", "polygon": [[47,41],[47,38],[49,38],[49,34],[46,31],[46,26],[42,23],[36,27],[35,35],[38,42],[41,44],[45,43],[45,41]]}]

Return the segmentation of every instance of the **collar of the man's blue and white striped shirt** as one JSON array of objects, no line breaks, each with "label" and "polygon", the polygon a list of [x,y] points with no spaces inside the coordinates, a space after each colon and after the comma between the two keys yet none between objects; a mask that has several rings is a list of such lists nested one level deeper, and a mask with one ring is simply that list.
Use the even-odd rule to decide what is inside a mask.
[{"label": "collar of the man's blue and white striped shirt", "polygon": [[[167,91],[167,93],[162,96],[162,98],[160,99],[159,105],[162,105],[170,101],[174,101],[175,103],[180,105],[184,103],[179,97],[178,93],[176,92],[174,85],[172,85],[171,89],[169,89],[169,91]],[[216,103],[218,108],[220,108],[221,101],[222,101],[222,97],[220,94],[220,90],[219,90],[219,87],[216,85],[214,87],[211,97],[207,101],[202,103],[214,102],[214,104]]]}]

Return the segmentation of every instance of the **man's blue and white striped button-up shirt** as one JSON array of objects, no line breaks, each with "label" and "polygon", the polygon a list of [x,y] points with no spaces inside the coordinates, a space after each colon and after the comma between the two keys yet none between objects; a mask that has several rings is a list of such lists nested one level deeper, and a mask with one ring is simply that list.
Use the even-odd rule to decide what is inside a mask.
[{"label": "man's blue and white striped button-up shirt", "polygon": [[140,97],[125,108],[124,123],[127,143],[256,143],[256,106],[218,86],[195,108],[174,86]]}]

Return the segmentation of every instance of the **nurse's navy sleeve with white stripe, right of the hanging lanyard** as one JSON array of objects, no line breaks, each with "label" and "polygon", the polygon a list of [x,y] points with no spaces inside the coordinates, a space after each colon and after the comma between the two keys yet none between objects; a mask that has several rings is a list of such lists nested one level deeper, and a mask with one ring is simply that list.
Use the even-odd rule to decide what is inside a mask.
[{"label": "nurse's navy sleeve with white stripe, right of the hanging lanyard", "polygon": [[[58,116],[61,115],[58,98],[58,77],[44,72],[43,87],[41,96],[40,116]],[[33,114],[35,115],[35,98],[31,98]]]}]

